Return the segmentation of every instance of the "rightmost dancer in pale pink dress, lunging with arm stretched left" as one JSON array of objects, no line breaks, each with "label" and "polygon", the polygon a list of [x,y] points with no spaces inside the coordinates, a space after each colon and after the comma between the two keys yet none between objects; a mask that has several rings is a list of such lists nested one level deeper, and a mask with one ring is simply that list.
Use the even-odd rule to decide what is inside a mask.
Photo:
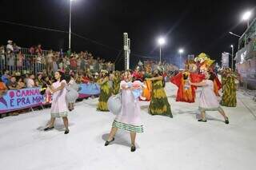
[{"label": "rightmost dancer in pale pink dress, lunging with arm stretched left", "polygon": [[229,119],[226,117],[224,110],[220,107],[218,98],[214,93],[214,73],[205,73],[205,80],[200,83],[191,83],[190,85],[202,87],[199,101],[199,110],[202,119],[198,121],[206,122],[206,111],[218,111],[225,119],[225,123],[229,124]]}]

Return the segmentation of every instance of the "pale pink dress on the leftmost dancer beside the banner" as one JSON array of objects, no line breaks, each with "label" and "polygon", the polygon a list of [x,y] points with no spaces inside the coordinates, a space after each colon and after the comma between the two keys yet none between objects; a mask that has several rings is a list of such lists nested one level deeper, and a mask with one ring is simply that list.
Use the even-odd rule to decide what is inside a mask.
[{"label": "pale pink dress on the leftmost dancer beside the banner", "polygon": [[[53,84],[54,89],[57,89],[61,84],[66,81],[56,81]],[[50,114],[51,117],[67,117],[68,109],[66,105],[66,87],[62,90],[59,90],[53,94],[53,101],[51,103]]]}]

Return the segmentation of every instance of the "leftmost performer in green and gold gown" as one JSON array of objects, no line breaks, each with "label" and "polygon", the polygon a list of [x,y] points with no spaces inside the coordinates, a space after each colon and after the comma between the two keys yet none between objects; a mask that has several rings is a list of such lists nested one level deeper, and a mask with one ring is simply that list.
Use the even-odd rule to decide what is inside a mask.
[{"label": "leftmost performer in green and gold gown", "polygon": [[112,89],[109,83],[109,73],[106,70],[102,70],[102,77],[98,81],[98,85],[101,86],[101,92],[98,98],[98,108],[99,111],[109,111],[107,109],[107,100],[110,98]]}]

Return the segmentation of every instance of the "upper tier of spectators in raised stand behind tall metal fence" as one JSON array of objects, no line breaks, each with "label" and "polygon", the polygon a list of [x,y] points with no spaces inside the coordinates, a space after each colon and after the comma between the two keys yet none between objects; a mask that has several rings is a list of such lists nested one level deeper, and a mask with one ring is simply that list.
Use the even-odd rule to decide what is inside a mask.
[{"label": "upper tier of spectators in raised stand behind tall metal fence", "polygon": [[42,45],[31,46],[30,49],[21,48],[11,40],[7,45],[0,46],[0,73],[9,70],[10,73],[54,73],[57,70],[64,72],[85,73],[87,71],[98,72],[101,69],[114,70],[114,64],[100,57],[94,57],[88,51],[70,53],[67,51],[43,50]]}]

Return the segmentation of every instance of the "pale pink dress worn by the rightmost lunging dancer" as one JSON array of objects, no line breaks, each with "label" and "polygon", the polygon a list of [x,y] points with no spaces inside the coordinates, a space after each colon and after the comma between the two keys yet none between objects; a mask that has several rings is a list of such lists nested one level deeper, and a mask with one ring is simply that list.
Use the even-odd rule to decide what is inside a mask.
[{"label": "pale pink dress worn by the rightmost lunging dancer", "polygon": [[220,108],[218,97],[214,93],[214,82],[206,80],[206,86],[202,87],[200,94],[199,110],[214,111]]}]

